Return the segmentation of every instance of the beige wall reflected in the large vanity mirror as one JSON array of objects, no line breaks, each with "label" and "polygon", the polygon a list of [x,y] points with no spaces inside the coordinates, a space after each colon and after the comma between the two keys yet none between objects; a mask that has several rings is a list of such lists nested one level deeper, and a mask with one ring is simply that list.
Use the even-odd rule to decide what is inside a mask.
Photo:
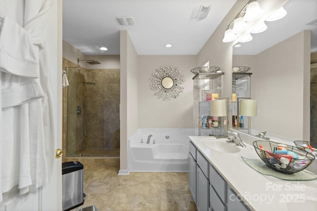
[{"label": "beige wall reflected in the large vanity mirror", "polygon": [[306,95],[309,95],[310,83],[305,77],[307,72],[309,74],[305,63],[309,61],[305,54],[310,52],[310,44],[309,47],[304,44],[307,40],[310,43],[307,34],[307,31],[300,32],[257,55],[256,128],[309,140],[309,116],[307,118],[306,114],[309,97]]}]

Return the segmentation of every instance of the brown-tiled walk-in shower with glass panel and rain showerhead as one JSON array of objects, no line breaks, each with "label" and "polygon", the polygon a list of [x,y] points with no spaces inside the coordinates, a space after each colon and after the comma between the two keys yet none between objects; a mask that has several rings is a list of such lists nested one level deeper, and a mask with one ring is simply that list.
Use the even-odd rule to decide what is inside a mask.
[{"label": "brown-tiled walk-in shower with glass panel and rain showerhead", "polygon": [[63,88],[66,156],[119,157],[120,70],[86,69],[79,61],[63,58],[69,82]]}]

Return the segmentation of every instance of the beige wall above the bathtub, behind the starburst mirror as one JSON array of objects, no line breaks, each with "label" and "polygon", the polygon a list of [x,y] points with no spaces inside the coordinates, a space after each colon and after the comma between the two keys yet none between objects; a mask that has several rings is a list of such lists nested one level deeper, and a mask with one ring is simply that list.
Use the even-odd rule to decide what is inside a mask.
[{"label": "beige wall above the bathtub, behind the starburst mirror", "polygon": [[[195,55],[183,56],[139,56],[139,128],[193,127],[193,80],[191,69],[196,67]],[[176,67],[184,75],[184,87],[179,97],[171,100],[158,98],[152,90],[150,78],[160,66]]]}]

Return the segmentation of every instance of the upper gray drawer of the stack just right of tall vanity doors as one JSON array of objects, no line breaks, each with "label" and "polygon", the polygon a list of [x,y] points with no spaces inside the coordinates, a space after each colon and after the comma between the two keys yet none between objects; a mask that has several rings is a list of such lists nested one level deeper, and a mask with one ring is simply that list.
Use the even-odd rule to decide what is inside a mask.
[{"label": "upper gray drawer of the stack just right of tall vanity doors", "polygon": [[227,202],[227,182],[219,175],[219,173],[211,165],[209,167],[210,176],[209,181],[218,193],[223,203]]}]

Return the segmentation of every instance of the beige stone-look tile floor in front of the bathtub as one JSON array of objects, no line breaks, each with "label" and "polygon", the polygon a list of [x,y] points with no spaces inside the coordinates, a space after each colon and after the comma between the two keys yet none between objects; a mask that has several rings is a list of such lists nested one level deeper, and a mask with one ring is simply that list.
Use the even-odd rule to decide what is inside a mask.
[{"label": "beige stone-look tile floor in front of the bathtub", "polygon": [[187,172],[130,172],[118,166],[84,166],[85,203],[99,211],[197,211]]}]

